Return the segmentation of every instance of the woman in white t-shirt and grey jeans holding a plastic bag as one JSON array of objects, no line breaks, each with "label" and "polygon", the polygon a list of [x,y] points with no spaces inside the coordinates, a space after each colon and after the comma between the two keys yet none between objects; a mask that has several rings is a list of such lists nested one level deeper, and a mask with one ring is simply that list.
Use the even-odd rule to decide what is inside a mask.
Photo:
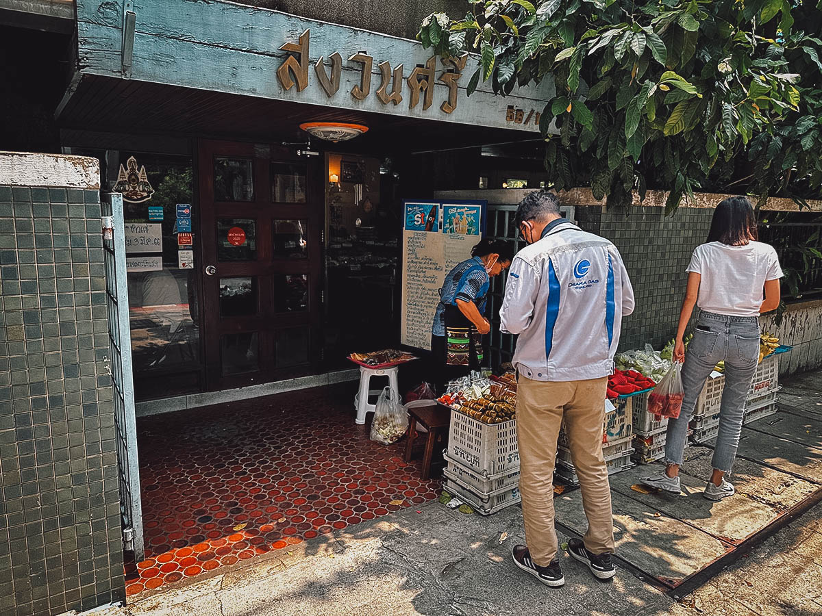
[{"label": "woman in white t-shirt and grey jeans holding a plastic bag", "polygon": [[[725,480],[737,455],[745,400],[760,356],[760,313],[779,305],[782,269],[772,246],[756,241],[756,216],[745,197],[723,200],[713,212],[708,242],[697,246],[688,266],[688,286],[679,316],[674,361],[682,366],[685,398],[678,419],[668,421],[665,471],[644,478],[654,488],[680,493],[679,467],[696,399],[714,366],[725,362],[719,432],[713,448],[713,475],[704,497],[718,501],[734,494]],[[682,338],[694,306],[700,317],[685,351]]]}]

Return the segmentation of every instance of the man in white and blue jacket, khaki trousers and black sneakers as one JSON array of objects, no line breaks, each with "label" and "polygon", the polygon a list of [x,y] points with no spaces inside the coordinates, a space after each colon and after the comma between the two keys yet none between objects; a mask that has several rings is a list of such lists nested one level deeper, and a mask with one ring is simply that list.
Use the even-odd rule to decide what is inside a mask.
[{"label": "man in white and blue jacket, khaki trousers and black sneakers", "polygon": [[547,586],[565,583],[553,506],[556,439],[564,419],[589,525],[582,541],[569,541],[568,551],[594,576],[608,579],[614,540],[603,458],[605,398],[634,292],[617,247],[561,218],[556,195],[527,195],[516,223],[530,246],[514,257],[500,310],[501,330],[519,334],[513,364],[528,545],[515,546],[514,561]]}]

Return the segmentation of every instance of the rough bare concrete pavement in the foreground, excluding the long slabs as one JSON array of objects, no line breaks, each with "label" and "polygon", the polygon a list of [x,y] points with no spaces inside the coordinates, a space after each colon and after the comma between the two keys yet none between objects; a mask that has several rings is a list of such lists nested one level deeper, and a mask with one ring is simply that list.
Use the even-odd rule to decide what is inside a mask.
[{"label": "rough bare concrete pavement in the foreground, excluding the long slabs", "polygon": [[113,614],[810,616],[822,614],[820,516],[817,506],[677,602],[624,569],[612,583],[597,582],[567,557],[566,586],[549,589],[510,562],[511,546],[523,541],[519,508],[479,517],[430,503],[161,591]]}]

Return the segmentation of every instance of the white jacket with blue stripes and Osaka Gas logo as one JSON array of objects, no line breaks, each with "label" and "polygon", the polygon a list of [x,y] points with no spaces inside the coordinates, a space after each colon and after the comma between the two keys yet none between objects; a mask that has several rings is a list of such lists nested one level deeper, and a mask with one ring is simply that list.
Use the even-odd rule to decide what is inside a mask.
[{"label": "white jacket with blue stripes and Osaka Gas logo", "polygon": [[552,226],[514,257],[501,330],[519,334],[513,364],[539,381],[611,375],[634,290],[610,241],[575,224]]}]

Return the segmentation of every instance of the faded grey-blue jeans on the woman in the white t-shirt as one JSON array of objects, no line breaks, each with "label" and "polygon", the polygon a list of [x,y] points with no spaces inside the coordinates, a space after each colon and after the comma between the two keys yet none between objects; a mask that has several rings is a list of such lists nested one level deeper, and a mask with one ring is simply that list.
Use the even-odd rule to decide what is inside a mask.
[{"label": "faded grey-blue jeans on the woman in the white t-shirt", "polygon": [[703,312],[682,366],[685,398],[679,418],[668,421],[665,462],[681,464],[688,422],[705,381],[719,361],[725,361],[725,388],[719,409],[719,434],[713,448],[713,468],[731,472],[745,418],[745,400],[760,357],[760,323],[755,316]]}]

